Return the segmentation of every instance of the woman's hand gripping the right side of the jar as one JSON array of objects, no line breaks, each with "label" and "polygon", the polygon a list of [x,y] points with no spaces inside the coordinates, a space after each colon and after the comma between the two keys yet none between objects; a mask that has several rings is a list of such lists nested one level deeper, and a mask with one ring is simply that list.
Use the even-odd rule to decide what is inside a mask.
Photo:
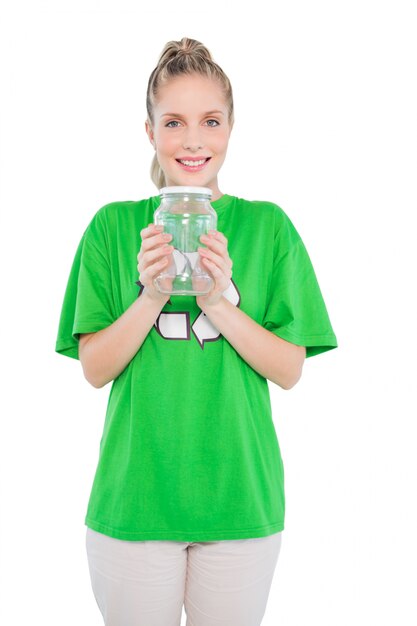
[{"label": "woman's hand gripping the right side of the jar", "polygon": [[232,277],[233,261],[227,251],[228,240],[223,233],[209,231],[208,235],[201,235],[200,241],[207,248],[198,248],[201,256],[201,267],[213,279],[213,287],[211,291],[204,296],[197,296],[196,302],[200,304],[217,304],[225,291],[230,285]]}]

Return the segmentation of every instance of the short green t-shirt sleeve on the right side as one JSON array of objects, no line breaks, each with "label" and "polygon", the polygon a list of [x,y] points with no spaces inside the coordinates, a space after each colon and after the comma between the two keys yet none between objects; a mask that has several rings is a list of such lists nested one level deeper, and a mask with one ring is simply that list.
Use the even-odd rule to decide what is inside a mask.
[{"label": "short green t-shirt sleeve on the right side", "polygon": [[311,357],[336,348],[337,339],[306,247],[283,211],[279,222],[262,325],[286,341],[305,346],[306,357]]}]

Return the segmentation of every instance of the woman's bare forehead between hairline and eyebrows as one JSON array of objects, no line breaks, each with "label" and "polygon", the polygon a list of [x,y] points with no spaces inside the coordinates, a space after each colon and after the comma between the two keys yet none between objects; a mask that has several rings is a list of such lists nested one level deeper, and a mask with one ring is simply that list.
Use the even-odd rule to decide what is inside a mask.
[{"label": "woman's bare forehead between hairline and eyebrows", "polygon": [[218,81],[205,76],[177,76],[160,87],[157,102],[157,114],[168,112],[199,113],[226,111],[223,91]]}]

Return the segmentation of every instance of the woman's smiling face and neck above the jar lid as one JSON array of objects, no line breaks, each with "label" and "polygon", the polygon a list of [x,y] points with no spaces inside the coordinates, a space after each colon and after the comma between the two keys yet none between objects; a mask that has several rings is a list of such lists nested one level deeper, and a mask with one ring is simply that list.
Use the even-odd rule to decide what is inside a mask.
[{"label": "woman's smiling face and neck above the jar lid", "polygon": [[[217,174],[226,158],[232,126],[216,81],[198,74],[171,79],[159,91],[154,128],[148,121],[145,127],[167,186],[209,187],[213,191],[212,200],[223,195]],[[208,160],[199,166],[179,162],[196,157],[198,161]]]}]

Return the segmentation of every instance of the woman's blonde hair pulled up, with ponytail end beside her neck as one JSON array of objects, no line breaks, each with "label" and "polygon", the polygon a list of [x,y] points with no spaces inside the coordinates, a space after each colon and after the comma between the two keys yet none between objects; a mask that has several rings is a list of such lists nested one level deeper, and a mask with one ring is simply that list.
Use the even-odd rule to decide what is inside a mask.
[{"label": "woman's blonde hair pulled up, with ponytail end beside her neck", "polygon": [[[229,124],[233,125],[234,108],[232,86],[221,67],[214,62],[210,51],[199,41],[183,37],[181,41],[169,41],[152,71],[146,93],[146,110],[148,123],[153,128],[153,109],[157,101],[158,90],[166,85],[171,78],[182,75],[200,74],[217,80],[224,94],[228,108]],[[159,165],[156,153],[151,164],[151,179],[156,187],[166,186],[165,174]]]}]

